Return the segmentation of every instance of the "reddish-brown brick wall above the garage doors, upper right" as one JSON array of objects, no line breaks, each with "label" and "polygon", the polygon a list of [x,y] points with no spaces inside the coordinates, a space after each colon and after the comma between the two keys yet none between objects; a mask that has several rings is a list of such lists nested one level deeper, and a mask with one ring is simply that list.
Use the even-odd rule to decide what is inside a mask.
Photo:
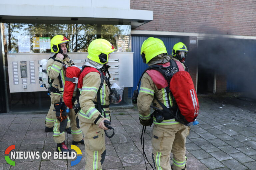
[{"label": "reddish-brown brick wall above the garage doors, upper right", "polygon": [[130,0],[130,9],[153,10],[135,30],[256,36],[255,0]]}]

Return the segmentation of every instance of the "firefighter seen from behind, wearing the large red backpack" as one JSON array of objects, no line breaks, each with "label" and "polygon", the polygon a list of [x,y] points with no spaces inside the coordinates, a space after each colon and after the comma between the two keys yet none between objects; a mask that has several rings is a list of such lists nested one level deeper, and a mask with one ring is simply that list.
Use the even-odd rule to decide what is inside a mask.
[{"label": "firefighter seen from behind, wearing the large red backpack", "polygon": [[[150,37],[145,40],[141,46],[141,56],[144,63],[149,66],[163,65],[169,66],[170,60],[177,63],[180,70],[185,66],[175,58],[167,56],[164,43],[157,38]],[[186,133],[187,127],[175,121],[169,114],[160,117],[158,109],[163,111],[161,102],[166,108],[172,110],[177,107],[171,93],[166,89],[167,80],[157,70],[147,70],[141,79],[141,86],[137,98],[137,107],[139,110],[139,120],[143,126],[153,127],[152,136],[152,158],[155,168],[158,170],[184,170],[186,167]],[[158,101],[159,102],[158,102]],[[150,115],[150,106],[153,103],[155,110]],[[173,153],[173,164],[170,165],[170,153]]]}]

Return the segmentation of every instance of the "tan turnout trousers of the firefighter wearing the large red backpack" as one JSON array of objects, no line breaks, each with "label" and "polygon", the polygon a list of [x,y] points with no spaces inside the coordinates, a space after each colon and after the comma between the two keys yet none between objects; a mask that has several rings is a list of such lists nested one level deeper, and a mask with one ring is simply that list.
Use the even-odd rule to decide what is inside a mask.
[{"label": "tan turnout trousers of the firefighter wearing the large red backpack", "polygon": [[157,170],[171,170],[170,153],[173,153],[173,170],[186,165],[187,127],[183,124],[156,125],[153,127],[152,158]]}]

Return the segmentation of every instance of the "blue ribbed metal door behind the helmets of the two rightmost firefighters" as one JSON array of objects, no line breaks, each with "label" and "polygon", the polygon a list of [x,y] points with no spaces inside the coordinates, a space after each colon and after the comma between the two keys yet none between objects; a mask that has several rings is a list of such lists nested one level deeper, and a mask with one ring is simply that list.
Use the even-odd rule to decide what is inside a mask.
[{"label": "blue ribbed metal door behind the helmets of the two rightmost firefighters", "polygon": [[142,43],[149,37],[154,37],[161,39],[167,49],[168,54],[171,54],[172,47],[177,42],[182,42],[183,38],[174,38],[174,37],[155,37],[155,36],[132,36],[132,52],[134,52],[133,58],[133,90],[136,89],[138,81],[142,72],[148,67],[147,64],[143,63],[141,55],[140,55],[140,48]]}]

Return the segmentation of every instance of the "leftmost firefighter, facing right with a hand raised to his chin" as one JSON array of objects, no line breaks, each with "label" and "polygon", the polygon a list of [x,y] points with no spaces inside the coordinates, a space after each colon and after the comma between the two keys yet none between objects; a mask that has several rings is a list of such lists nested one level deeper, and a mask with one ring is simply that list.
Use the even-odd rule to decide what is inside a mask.
[{"label": "leftmost firefighter, facing right with a hand raised to his chin", "polygon": [[[51,40],[51,57],[47,61],[46,69],[50,79],[50,97],[51,106],[48,113],[51,114],[51,120],[54,122],[53,139],[57,143],[56,150],[71,154],[71,150],[65,144],[65,128],[68,123],[67,116],[70,118],[72,144],[84,144],[82,131],[76,126],[76,116],[73,109],[67,116],[65,110],[58,108],[64,106],[63,91],[65,84],[65,69],[74,65],[73,61],[67,55],[69,40],[61,35],[56,35]],[[62,111],[61,111],[62,110]],[[48,118],[46,118],[47,120]]]}]

